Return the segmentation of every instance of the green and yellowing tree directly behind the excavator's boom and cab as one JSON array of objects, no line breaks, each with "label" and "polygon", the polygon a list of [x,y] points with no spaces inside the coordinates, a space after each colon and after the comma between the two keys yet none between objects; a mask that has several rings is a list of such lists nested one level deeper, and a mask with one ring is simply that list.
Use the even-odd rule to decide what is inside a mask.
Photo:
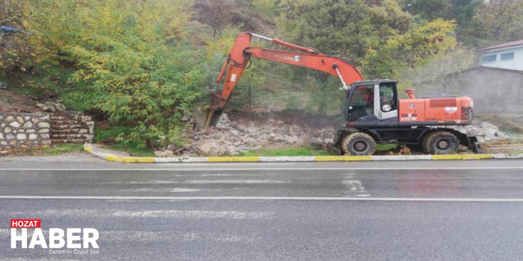
[{"label": "green and yellowing tree directly behind the excavator's boom and cab", "polygon": [[[413,63],[451,48],[453,23],[437,20],[417,25],[394,0],[287,0],[281,3],[281,38],[344,57],[367,78],[394,78]],[[294,79],[308,81],[320,112],[339,95],[339,81],[326,74],[294,69]],[[297,77],[298,75],[298,77]]]}]

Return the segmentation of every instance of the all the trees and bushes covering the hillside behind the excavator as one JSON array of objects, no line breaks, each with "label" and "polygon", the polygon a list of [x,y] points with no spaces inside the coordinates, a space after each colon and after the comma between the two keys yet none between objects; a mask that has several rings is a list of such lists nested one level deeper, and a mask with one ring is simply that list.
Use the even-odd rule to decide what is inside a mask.
[{"label": "all the trees and bushes covering the hillside behind the excavator", "polygon": [[[2,84],[125,126],[117,141],[150,147],[184,143],[183,117],[206,102],[238,32],[310,46],[407,87],[467,68],[477,46],[522,39],[523,2],[5,0],[0,25],[19,29],[0,34]],[[230,106],[335,114],[338,88],[325,74],[253,61]]]}]

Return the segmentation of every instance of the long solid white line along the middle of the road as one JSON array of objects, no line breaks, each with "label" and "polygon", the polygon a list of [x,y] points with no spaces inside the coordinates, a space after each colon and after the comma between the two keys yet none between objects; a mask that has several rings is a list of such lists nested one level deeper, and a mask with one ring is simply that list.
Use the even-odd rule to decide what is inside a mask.
[{"label": "long solid white line along the middle of the road", "polygon": [[0,199],[131,199],[131,200],[331,200],[331,201],[437,201],[523,202],[523,198],[395,198],[395,197],[162,197],[162,196],[0,196]]}]

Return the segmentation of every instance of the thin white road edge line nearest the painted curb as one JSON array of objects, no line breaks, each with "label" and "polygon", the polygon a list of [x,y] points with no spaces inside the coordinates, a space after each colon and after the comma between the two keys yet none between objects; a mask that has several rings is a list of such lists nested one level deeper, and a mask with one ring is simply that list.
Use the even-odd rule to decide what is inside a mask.
[{"label": "thin white road edge line nearest the painted curb", "polygon": [[178,169],[0,169],[4,171],[251,171],[251,170],[521,170],[523,167],[412,167],[412,168],[178,168]]}]

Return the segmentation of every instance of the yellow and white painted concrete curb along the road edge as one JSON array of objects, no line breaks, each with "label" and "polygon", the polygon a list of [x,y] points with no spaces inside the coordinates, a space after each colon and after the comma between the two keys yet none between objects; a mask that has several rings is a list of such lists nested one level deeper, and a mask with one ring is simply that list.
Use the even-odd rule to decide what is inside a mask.
[{"label": "yellow and white painted concrete curb along the road edge", "polygon": [[109,161],[141,162],[303,162],[303,161],[397,161],[397,160],[480,160],[480,159],[523,159],[523,154],[465,154],[465,155],[394,155],[394,156],[296,156],[296,157],[124,157],[97,151],[91,144],[84,145],[84,151]]}]

